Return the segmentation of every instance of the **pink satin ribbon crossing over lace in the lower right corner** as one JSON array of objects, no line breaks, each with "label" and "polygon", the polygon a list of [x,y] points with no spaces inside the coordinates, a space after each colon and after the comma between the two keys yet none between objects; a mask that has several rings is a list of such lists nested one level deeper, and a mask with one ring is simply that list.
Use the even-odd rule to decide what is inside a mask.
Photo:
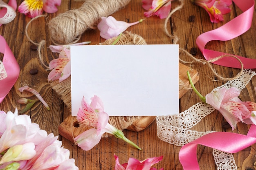
[{"label": "pink satin ribbon crossing over lace in the lower right corner", "polygon": [[256,143],[256,126],[252,125],[247,135],[231,132],[212,132],[184,145],[179,152],[180,163],[184,170],[199,170],[196,151],[198,144],[236,153]]}]

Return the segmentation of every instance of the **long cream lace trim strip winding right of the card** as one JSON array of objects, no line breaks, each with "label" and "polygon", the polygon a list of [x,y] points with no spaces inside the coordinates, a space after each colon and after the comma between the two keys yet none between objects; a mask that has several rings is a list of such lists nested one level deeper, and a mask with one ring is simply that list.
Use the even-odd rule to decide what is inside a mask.
[{"label": "long cream lace trim strip winding right of the card", "polygon": [[[254,75],[256,75],[254,71],[244,70],[243,74],[238,77],[238,79],[229,81],[226,84],[213,89],[213,91],[222,87],[236,87],[242,90]],[[159,139],[166,141],[169,144],[183,146],[207,133],[214,132],[197,132],[189,130],[198,124],[202,118],[213,112],[213,110],[215,109],[211,105],[200,102],[178,115],[157,116],[157,136]],[[237,170],[234,157],[231,153],[213,149],[213,157],[218,170]]]}]

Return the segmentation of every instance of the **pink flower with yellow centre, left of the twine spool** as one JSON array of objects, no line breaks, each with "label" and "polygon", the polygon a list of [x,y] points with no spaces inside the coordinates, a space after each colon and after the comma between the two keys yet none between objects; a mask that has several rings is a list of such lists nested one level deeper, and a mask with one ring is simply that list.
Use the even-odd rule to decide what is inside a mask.
[{"label": "pink flower with yellow centre, left of the twine spool", "polygon": [[18,7],[20,13],[24,13],[30,18],[42,15],[43,11],[55,13],[58,11],[56,6],[61,5],[61,0],[24,0]]}]

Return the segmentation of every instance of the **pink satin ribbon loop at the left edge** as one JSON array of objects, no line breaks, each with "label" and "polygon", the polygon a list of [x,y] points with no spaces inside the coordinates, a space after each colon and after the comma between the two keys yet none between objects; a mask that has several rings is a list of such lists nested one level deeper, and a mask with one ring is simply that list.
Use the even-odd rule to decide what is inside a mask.
[{"label": "pink satin ribbon loop at the left edge", "polygon": [[4,97],[9,93],[13,85],[18,79],[20,73],[20,67],[16,58],[14,57],[11,49],[9,48],[7,42],[4,40],[2,35],[0,35],[0,53],[4,53],[2,64],[4,64],[7,77],[0,80],[0,103],[3,101]]}]

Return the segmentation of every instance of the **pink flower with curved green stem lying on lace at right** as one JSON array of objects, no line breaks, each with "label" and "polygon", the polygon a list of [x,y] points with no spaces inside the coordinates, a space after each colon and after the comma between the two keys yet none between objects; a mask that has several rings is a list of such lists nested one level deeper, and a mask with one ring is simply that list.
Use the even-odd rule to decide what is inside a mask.
[{"label": "pink flower with curved green stem lying on lace at right", "polygon": [[187,72],[187,74],[195,93],[203,102],[210,104],[213,108],[218,110],[230,124],[232,130],[236,128],[236,124],[239,121],[242,121],[245,124],[256,124],[254,113],[254,111],[256,111],[256,103],[242,102],[238,98],[240,95],[240,90],[238,88],[231,87],[227,89],[223,87],[203,97],[193,85],[189,72]]}]

